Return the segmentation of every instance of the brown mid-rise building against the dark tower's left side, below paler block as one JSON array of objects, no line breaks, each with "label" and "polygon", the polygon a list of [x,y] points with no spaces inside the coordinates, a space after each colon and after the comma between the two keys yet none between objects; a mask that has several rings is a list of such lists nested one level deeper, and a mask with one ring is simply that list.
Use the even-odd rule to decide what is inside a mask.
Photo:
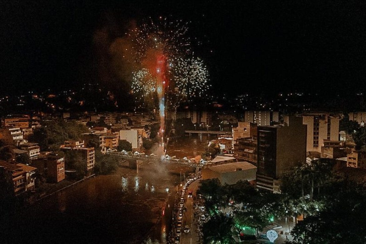
[{"label": "brown mid-rise building against the dark tower's left side, below paler block", "polygon": [[238,161],[247,161],[257,166],[257,135],[237,139],[234,144],[234,157]]}]

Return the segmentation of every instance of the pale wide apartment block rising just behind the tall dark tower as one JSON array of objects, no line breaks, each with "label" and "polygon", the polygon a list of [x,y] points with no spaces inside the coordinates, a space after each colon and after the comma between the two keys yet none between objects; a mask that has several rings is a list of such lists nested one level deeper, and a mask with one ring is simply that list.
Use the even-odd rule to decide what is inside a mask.
[{"label": "pale wide apartment block rising just behind the tall dark tower", "polygon": [[261,125],[273,125],[279,121],[279,112],[276,111],[245,111],[244,122],[256,123]]}]

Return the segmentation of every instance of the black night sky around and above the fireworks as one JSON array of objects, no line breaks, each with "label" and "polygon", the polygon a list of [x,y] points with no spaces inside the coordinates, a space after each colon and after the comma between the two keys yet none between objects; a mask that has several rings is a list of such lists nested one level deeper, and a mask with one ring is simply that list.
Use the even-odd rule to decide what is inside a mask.
[{"label": "black night sky around and above the fireworks", "polygon": [[1,1],[0,90],[98,81],[96,30],[122,37],[131,19],[149,16],[190,22],[189,35],[202,42],[192,48],[218,93],[342,94],[366,87],[364,1],[101,2]]}]

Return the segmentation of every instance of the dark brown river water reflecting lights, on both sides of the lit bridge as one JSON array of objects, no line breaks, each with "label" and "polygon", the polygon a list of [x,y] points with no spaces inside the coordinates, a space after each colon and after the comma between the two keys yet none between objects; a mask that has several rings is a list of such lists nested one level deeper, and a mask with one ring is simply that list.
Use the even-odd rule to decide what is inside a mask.
[{"label": "dark brown river water reflecting lights, on both sides of the lit bridge", "polygon": [[[172,140],[167,153],[200,155],[207,139]],[[155,164],[91,177],[2,217],[0,243],[166,243],[180,179]]]}]

